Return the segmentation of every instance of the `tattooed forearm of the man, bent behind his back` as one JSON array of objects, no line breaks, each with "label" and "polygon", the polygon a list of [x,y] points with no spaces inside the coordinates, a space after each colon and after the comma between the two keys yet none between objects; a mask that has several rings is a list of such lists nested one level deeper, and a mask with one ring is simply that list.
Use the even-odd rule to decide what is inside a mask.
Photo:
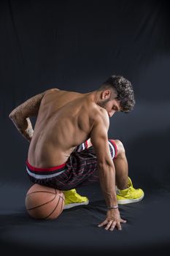
[{"label": "tattooed forearm of the man, bent behind his back", "polygon": [[17,127],[18,131],[26,138],[26,140],[31,141],[34,129],[32,128],[30,118],[21,118],[12,114],[9,115],[9,118],[11,118],[15,127]]}]

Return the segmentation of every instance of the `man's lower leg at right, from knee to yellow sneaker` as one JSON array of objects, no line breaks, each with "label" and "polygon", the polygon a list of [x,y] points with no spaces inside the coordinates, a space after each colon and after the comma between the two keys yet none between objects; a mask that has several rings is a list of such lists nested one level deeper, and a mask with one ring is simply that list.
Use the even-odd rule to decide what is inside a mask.
[{"label": "man's lower leg at right, from knee to yellow sneaker", "polygon": [[120,140],[113,140],[117,147],[117,155],[113,159],[115,165],[115,180],[117,186],[117,203],[136,203],[142,200],[142,189],[134,189],[131,178],[128,177],[128,161],[125,148]]}]

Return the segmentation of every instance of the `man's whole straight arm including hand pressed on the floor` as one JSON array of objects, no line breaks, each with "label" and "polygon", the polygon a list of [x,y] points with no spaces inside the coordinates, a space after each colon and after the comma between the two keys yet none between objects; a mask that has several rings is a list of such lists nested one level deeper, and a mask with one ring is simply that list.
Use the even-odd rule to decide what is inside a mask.
[{"label": "man's whole straight arm including hand pressed on the floor", "polygon": [[[106,110],[101,110],[95,116],[93,129],[90,134],[91,143],[93,144],[98,162],[98,174],[100,178],[101,189],[107,207],[117,206],[117,196],[115,192],[115,165],[109,150],[108,129],[109,116]],[[120,218],[118,208],[108,209],[107,218],[99,227],[107,225],[106,230],[113,230],[115,226],[121,230],[120,222],[125,222]]]}]

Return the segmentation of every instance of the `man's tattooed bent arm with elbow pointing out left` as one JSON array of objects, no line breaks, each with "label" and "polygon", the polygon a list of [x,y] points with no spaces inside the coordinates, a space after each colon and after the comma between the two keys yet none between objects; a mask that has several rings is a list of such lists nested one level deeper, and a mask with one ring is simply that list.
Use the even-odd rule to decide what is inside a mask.
[{"label": "man's tattooed bent arm with elbow pointing out left", "polygon": [[[54,91],[56,89],[50,89],[47,91]],[[58,90],[58,89],[57,89]],[[41,104],[42,98],[47,91],[37,94],[34,97],[26,100],[23,104],[19,105],[17,108],[12,110],[9,114],[9,118],[12,119],[15,127],[18,131],[28,140],[31,141],[34,130],[32,128],[31,120],[29,117],[37,116],[39,112],[39,106]]]}]

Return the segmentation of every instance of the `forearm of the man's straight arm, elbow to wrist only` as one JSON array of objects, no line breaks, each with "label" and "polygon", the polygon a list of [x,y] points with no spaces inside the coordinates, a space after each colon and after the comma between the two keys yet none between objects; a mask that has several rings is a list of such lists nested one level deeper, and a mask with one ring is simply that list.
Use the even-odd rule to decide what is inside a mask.
[{"label": "forearm of the man's straight arm, elbow to wrist only", "polygon": [[117,197],[115,191],[115,166],[98,165],[98,173],[101,189],[104,193],[107,207],[117,206]]}]

